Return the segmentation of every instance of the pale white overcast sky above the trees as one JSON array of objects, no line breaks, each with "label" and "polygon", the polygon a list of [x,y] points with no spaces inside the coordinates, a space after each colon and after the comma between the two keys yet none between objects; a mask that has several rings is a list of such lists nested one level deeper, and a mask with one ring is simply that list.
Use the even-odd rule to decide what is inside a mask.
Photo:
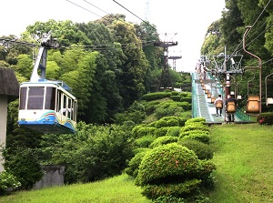
[{"label": "pale white overcast sky above the trees", "polygon": [[[128,22],[140,24],[141,18],[156,25],[162,41],[177,42],[168,47],[168,56],[182,56],[176,60],[177,71],[191,72],[201,55],[207,27],[221,18],[224,7],[225,0],[2,0],[0,36],[20,36],[36,21],[87,23],[107,14],[123,14]],[[168,63],[174,66],[173,60]]]}]

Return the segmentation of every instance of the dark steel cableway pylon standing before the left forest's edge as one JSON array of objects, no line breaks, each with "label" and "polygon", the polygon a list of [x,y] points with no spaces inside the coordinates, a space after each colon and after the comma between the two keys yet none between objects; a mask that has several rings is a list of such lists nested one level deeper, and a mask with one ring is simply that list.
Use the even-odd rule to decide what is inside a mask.
[{"label": "dark steel cableway pylon standing before the left forest's edge", "polygon": [[173,89],[171,76],[170,76],[169,69],[167,66],[167,52],[168,52],[167,49],[170,46],[177,46],[178,43],[177,42],[156,42],[154,45],[159,46],[159,47],[163,47],[163,49],[164,49],[164,66],[162,68],[158,89],[160,90],[162,88],[166,89],[166,88],[170,88],[170,87],[171,87],[171,89]]}]

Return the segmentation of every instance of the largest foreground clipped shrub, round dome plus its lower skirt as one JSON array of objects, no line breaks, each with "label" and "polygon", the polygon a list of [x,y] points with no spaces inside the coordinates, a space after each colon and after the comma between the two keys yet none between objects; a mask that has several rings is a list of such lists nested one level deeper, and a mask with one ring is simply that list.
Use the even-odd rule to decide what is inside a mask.
[{"label": "largest foreground clipped shrub, round dome plus its lower skirt", "polygon": [[135,180],[147,198],[187,198],[214,169],[212,162],[199,160],[194,151],[171,143],[146,153]]}]

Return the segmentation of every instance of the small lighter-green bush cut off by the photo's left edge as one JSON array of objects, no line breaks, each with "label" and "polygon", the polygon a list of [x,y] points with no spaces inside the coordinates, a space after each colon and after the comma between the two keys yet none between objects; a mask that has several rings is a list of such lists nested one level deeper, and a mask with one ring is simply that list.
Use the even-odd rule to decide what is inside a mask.
[{"label": "small lighter-green bush cut off by the photo's left edge", "polygon": [[8,193],[9,190],[14,190],[21,186],[21,183],[7,171],[0,172],[0,196]]}]

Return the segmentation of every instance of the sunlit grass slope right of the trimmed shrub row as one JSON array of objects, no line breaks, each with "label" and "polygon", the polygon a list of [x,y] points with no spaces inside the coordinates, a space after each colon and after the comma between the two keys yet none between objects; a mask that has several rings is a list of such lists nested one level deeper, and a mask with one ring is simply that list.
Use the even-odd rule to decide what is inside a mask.
[{"label": "sunlit grass slope right of the trimmed shrub row", "polygon": [[217,180],[211,202],[273,202],[273,127],[212,127]]}]

